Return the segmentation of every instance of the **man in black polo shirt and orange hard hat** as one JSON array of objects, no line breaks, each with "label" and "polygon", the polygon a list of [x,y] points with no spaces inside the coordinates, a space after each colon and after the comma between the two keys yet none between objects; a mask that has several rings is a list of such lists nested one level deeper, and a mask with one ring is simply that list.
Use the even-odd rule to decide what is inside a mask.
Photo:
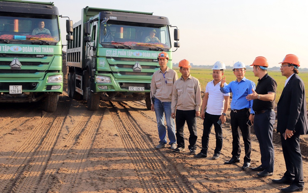
[{"label": "man in black polo shirt and orange hard hat", "polygon": [[274,172],[274,146],[272,141],[277,83],[267,73],[268,62],[265,57],[256,57],[250,66],[253,66],[253,74],[259,79],[256,90],[247,95],[246,99],[253,100],[252,108],[255,113],[253,128],[259,141],[261,153],[261,165],[251,169],[261,171],[257,174],[260,177],[272,176]]}]

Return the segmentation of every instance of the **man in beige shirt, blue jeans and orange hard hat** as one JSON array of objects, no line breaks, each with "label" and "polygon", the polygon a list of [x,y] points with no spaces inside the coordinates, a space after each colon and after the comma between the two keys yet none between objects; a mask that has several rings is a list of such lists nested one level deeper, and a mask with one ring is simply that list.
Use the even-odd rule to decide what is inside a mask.
[{"label": "man in beige shirt, blue jeans and orange hard hat", "polygon": [[168,68],[168,53],[161,52],[158,57],[160,69],[154,72],[151,81],[151,110],[155,111],[160,138],[156,149],[163,148],[167,143],[166,127],[164,124],[164,114],[167,123],[169,145],[171,149],[176,149],[176,136],[174,121],[171,118],[171,98],[173,83],[178,79],[176,71]]}]

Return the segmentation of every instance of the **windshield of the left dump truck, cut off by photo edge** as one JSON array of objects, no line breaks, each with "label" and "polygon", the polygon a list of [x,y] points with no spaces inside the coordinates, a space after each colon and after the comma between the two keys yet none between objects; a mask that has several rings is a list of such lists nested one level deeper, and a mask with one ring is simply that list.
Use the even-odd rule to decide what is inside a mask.
[{"label": "windshield of the left dump truck, cut off by photo edge", "polygon": [[59,41],[56,15],[0,12],[0,43],[55,44]]}]

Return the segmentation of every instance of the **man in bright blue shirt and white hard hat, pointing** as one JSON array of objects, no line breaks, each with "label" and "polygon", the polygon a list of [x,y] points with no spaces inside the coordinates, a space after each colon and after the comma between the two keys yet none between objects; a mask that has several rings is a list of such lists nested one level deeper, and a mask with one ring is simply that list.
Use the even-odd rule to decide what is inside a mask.
[{"label": "man in bright blue shirt and white hard hat, pointing", "polygon": [[[233,73],[236,77],[235,81],[230,82],[227,86],[224,85],[226,77],[221,80],[220,91],[222,93],[232,92],[231,101],[231,130],[232,130],[232,158],[226,161],[225,164],[234,164],[240,162],[241,147],[240,147],[240,130],[243,136],[245,156],[242,170],[250,167],[251,139],[250,126],[247,122],[250,120],[253,124],[254,111],[252,110],[253,100],[248,101],[246,96],[255,90],[256,84],[245,78],[245,64],[236,62],[233,65]],[[251,112],[249,112],[251,109]],[[238,129],[240,128],[240,129]]]}]

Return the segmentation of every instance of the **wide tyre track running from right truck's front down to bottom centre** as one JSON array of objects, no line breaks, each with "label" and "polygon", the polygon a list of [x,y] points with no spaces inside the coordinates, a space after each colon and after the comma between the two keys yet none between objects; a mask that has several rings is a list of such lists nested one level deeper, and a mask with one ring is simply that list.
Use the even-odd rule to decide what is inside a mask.
[{"label": "wide tyre track running from right truck's front down to bottom centre", "polygon": [[152,140],[120,102],[106,105],[146,192],[199,192],[160,151],[153,151]]}]

